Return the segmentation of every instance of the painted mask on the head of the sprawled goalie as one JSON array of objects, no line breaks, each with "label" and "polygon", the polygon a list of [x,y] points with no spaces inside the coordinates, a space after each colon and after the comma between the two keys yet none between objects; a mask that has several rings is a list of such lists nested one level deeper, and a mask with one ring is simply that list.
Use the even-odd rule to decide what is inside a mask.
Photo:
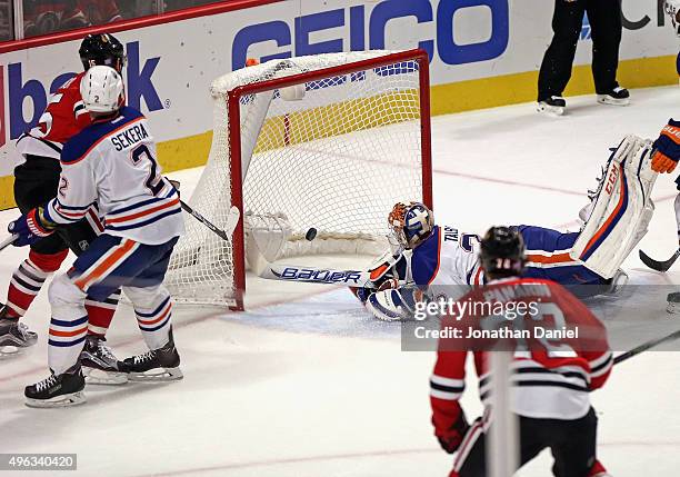
[{"label": "painted mask on the head of the sprawled goalie", "polygon": [[434,216],[423,203],[397,202],[388,222],[399,245],[412,249],[430,237],[434,228]]}]

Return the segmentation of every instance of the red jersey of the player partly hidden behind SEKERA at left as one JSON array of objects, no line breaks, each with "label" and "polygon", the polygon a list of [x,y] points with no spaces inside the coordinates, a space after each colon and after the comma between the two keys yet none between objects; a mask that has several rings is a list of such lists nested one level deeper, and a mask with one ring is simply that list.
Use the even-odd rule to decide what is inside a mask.
[{"label": "red jersey of the player partly hidden behind SEKERA at left", "polygon": [[63,145],[92,122],[80,97],[81,72],[68,80],[50,97],[38,125],[17,140],[22,155],[59,160]]}]

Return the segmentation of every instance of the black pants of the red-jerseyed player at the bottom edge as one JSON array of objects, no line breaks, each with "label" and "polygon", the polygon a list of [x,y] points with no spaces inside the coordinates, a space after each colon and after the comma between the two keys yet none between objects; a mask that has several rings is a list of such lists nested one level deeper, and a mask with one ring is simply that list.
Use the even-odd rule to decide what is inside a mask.
[{"label": "black pants of the red-jerseyed player at the bottom edge", "polygon": [[[474,426],[471,428],[472,431]],[[556,477],[586,477],[596,461],[598,418],[594,409],[576,420],[533,419],[519,417],[520,466],[550,448]],[[466,436],[467,438],[468,436]],[[472,444],[462,466],[460,477],[486,477],[486,436],[480,434]],[[459,449],[466,451],[466,443]]]}]

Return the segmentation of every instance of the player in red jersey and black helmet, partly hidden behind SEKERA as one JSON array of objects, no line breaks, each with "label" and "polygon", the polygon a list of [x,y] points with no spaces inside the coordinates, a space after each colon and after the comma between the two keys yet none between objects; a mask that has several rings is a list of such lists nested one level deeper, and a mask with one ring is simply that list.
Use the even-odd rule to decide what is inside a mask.
[{"label": "player in red jersey and black helmet, partly hidden behind SEKERA", "polygon": [[[119,72],[126,56],[123,46],[108,33],[88,34],[79,49],[84,70],[94,64],[107,64]],[[17,140],[23,162],[14,169],[14,200],[21,212],[47,203],[57,196],[61,172],[61,148],[72,136],[91,123],[80,97],[80,80],[84,72],[67,81],[50,97],[50,102],[38,125]],[[0,354],[2,347],[12,349],[31,346],[37,335],[19,322],[40,292],[47,278],[57,271],[69,248],[80,255],[99,235],[102,226],[93,203],[86,219],[60,227],[57,233],[31,246],[29,257],[12,275],[7,305],[0,309]],[[88,299],[89,334],[81,357],[86,371],[94,371],[91,382],[119,384],[127,377],[117,371],[117,359],[104,344],[104,335],[116,311],[120,292],[103,301]],[[8,349],[8,348],[6,348]],[[14,352],[12,352],[14,354]],[[104,371],[101,376],[99,371]]]}]

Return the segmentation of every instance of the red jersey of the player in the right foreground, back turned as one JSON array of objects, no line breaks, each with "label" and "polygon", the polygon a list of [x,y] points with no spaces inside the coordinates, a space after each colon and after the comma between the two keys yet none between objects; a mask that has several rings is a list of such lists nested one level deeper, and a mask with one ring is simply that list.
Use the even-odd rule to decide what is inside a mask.
[{"label": "red jersey of the player in the right foreground, back turned", "polygon": [[[513,331],[511,338],[502,337],[504,349],[514,350],[512,410],[520,416],[552,419],[578,419],[588,413],[588,394],[604,384],[613,358],[604,326],[579,299],[552,281],[522,278],[494,280],[472,290],[459,302],[468,304],[467,311],[458,317],[446,317],[441,330],[461,329],[463,339],[440,337],[430,380],[437,436],[448,437],[461,413],[459,399],[464,389],[468,354],[473,355],[481,400],[489,404],[489,351],[484,349],[491,349],[500,339],[483,325],[491,305],[494,310],[508,304],[513,306],[506,309],[526,310],[523,316],[512,320],[513,328],[521,329]],[[470,328],[476,329],[477,335],[466,340]],[[567,329],[571,332],[566,332]],[[556,339],[552,334],[547,338],[546,330],[550,334],[562,331],[570,337]]]}]

